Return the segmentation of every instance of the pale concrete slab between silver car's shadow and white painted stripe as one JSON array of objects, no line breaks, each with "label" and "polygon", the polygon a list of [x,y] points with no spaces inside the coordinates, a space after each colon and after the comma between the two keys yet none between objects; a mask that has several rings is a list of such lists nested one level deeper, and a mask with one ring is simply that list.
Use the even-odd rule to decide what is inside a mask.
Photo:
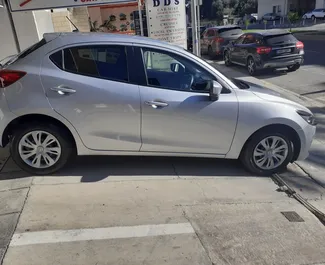
[{"label": "pale concrete slab between silver car's shadow and white painted stripe", "polygon": [[32,186],[17,232],[183,222],[182,205],[283,201],[269,178]]}]

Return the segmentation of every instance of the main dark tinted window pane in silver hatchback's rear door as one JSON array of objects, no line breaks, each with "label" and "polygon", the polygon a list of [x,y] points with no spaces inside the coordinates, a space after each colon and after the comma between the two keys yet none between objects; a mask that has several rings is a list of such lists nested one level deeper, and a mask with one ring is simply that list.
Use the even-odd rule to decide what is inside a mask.
[{"label": "main dark tinted window pane in silver hatchback's rear door", "polygon": [[123,46],[80,46],[65,49],[64,70],[105,79],[129,80]]}]

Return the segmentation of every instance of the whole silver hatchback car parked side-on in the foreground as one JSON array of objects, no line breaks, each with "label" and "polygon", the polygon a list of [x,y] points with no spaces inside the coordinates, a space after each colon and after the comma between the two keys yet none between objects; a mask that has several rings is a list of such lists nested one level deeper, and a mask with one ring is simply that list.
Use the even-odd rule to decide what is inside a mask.
[{"label": "whole silver hatchback car parked side-on in the foreground", "polygon": [[75,155],[240,158],[271,174],[305,159],[315,134],[307,108],[149,38],[45,34],[0,86],[1,146],[32,174]]}]

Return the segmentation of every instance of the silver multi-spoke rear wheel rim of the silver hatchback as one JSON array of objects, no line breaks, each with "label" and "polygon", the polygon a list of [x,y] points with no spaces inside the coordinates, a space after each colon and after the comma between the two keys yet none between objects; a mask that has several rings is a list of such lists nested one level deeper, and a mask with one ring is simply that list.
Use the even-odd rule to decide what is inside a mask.
[{"label": "silver multi-spoke rear wheel rim of the silver hatchback", "polygon": [[61,157],[61,145],[56,137],[46,131],[31,131],[18,144],[21,159],[33,168],[49,168]]}]

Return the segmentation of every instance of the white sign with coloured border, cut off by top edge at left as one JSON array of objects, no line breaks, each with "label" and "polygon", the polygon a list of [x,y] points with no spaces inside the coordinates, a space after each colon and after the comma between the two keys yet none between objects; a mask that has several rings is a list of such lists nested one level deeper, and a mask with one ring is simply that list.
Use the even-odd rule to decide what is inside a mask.
[{"label": "white sign with coloured border, cut off by top edge at left", "polygon": [[98,6],[123,2],[136,2],[136,0],[9,0],[9,5],[11,11],[15,12],[77,6]]}]

